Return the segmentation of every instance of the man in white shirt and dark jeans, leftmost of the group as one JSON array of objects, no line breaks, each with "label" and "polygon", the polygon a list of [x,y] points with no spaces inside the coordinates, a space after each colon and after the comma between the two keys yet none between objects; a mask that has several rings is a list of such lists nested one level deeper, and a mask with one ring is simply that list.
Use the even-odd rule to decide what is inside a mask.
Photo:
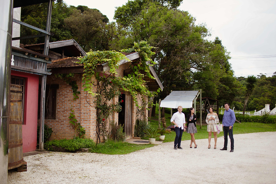
[{"label": "man in white shirt and dark jeans, leftmost of the group", "polygon": [[182,113],[182,106],[178,106],[177,107],[177,112],[174,113],[172,115],[172,118],[171,118],[171,122],[174,124],[174,128],[175,128],[175,139],[174,139],[174,149],[177,150],[178,149],[183,149],[180,147],[180,144],[181,144],[181,138],[182,138],[182,134],[183,134],[183,131],[185,132],[186,131],[186,128],[185,128],[185,114]]}]

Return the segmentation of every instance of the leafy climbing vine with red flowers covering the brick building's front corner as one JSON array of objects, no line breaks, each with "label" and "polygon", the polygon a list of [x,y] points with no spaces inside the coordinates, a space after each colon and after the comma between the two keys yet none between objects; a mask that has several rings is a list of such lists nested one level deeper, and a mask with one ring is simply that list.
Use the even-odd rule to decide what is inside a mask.
[{"label": "leafy climbing vine with red flowers covering the brick building's front corner", "polygon": [[[137,96],[142,98],[142,104],[146,102],[144,96],[153,97],[156,92],[150,92],[145,85],[144,74],[149,78],[154,79],[150,74],[149,66],[154,65],[150,58],[154,52],[151,51],[153,47],[148,46],[147,42],[141,41],[134,43],[134,47],[131,49],[121,50],[122,52],[139,52],[141,60],[131,63],[132,72],[128,76],[120,77],[116,76],[116,69],[119,66],[121,60],[127,60],[131,62],[124,54],[116,51],[90,51],[86,56],[79,58],[79,64],[84,65],[84,74],[82,78],[84,91],[95,96],[95,108],[97,115],[96,133],[97,142],[101,142],[100,136],[103,137],[103,141],[107,139],[107,121],[113,111],[120,112],[122,107],[120,102],[112,103],[112,99],[120,95],[120,90],[128,91],[133,97],[134,103],[137,108],[139,106]],[[108,63],[109,70],[97,72],[97,66],[99,64]],[[95,80],[93,80],[95,79]],[[96,86],[96,91],[93,87]],[[159,90],[158,90],[159,91]],[[149,102],[152,103],[152,102]],[[142,105],[143,106],[143,105]],[[110,119],[109,119],[110,121]]]}]

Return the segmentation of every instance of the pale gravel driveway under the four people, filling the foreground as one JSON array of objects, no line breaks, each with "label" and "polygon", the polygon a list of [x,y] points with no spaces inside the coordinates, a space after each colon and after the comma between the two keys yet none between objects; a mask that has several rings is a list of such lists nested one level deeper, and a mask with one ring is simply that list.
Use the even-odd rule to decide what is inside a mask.
[{"label": "pale gravel driveway under the four people, filling the foreground", "polygon": [[182,141],[183,150],[174,150],[169,142],[125,155],[26,156],[28,171],[9,171],[8,183],[275,183],[276,132],[237,134],[234,140],[233,153],[219,150],[224,143],[219,137],[216,150],[212,138],[211,149],[208,139],[200,139],[197,149]]}]

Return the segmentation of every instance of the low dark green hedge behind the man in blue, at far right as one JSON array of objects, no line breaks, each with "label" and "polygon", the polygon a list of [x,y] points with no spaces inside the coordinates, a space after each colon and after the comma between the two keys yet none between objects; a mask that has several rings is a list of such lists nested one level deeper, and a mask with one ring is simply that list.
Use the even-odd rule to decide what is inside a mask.
[{"label": "low dark green hedge behind the man in blue, at far right", "polygon": [[[264,114],[262,116],[249,116],[249,115],[242,115],[242,114],[235,114],[236,119],[242,122],[258,122],[258,123],[276,123],[276,116]],[[219,114],[219,120],[222,121],[223,114]]]}]

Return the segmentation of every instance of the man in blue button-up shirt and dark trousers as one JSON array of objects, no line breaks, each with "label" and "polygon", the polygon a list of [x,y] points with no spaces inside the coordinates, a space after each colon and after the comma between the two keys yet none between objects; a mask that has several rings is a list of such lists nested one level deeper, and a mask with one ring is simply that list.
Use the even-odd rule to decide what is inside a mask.
[{"label": "man in blue button-up shirt and dark trousers", "polygon": [[228,143],[228,134],[231,141],[231,151],[234,151],[234,138],[233,138],[233,125],[236,121],[236,116],[234,111],[230,109],[229,103],[224,104],[225,111],[222,118],[222,127],[223,127],[223,134],[224,134],[224,147],[220,150],[227,150],[227,143]]}]

